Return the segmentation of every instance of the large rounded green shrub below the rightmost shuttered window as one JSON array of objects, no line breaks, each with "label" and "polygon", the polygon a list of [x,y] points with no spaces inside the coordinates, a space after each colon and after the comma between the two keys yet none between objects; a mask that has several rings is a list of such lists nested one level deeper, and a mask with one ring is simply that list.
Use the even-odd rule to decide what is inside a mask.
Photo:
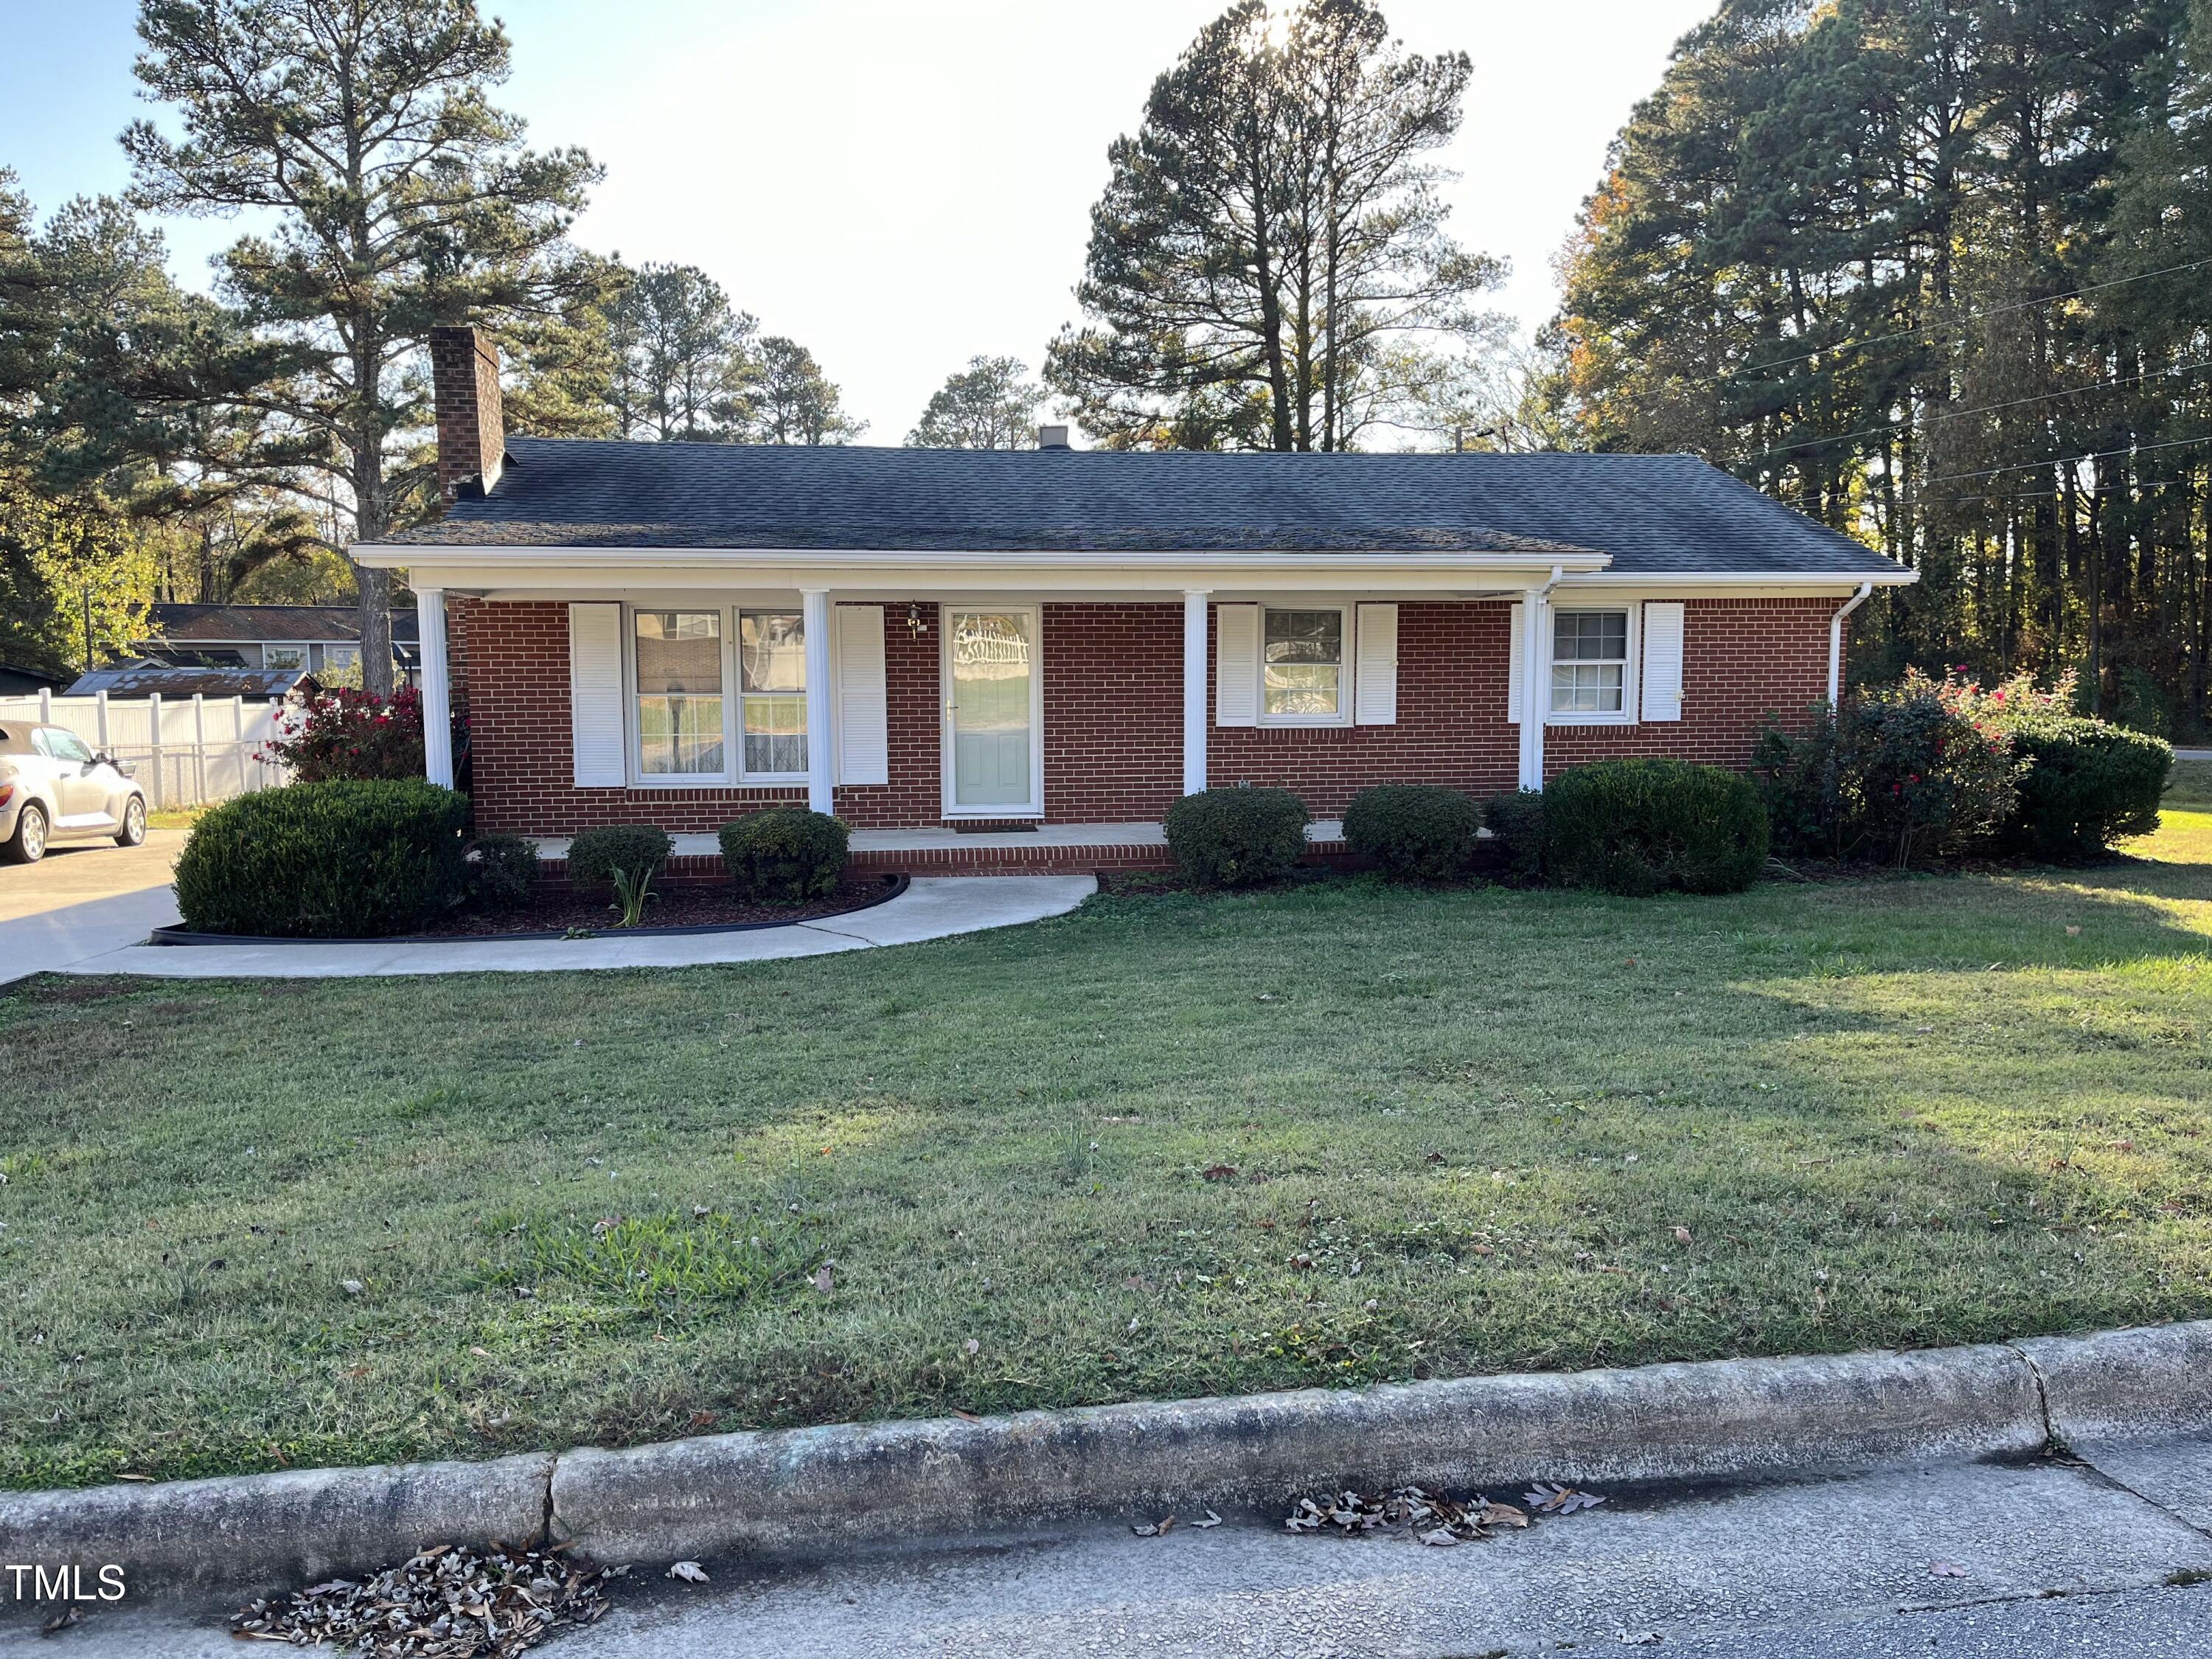
[{"label": "large rounded green shrub below the rightmost shuttered window", "polygon": [[1608,894],[1736,894],[1767,863],[1750,779],[1688,761],[1573,765],[1544,792],[1544,872]]}]

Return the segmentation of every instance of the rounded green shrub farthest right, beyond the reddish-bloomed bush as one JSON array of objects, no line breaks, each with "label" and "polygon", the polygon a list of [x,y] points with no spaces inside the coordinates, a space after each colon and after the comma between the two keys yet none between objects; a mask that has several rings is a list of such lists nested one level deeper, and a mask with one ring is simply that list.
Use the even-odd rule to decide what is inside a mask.
[{"label": "rounded green shrub farthest right, beyond the reddish-bloomed bush", "polygon": [[2020,805],[2000,832],[2028,858],[2095,858],[2121,836],[2159,827],[2159,796],[2174,750],[2159,737],[2079,714],[2035,712],[2006,721],[2013,757],[2026,761]]}]

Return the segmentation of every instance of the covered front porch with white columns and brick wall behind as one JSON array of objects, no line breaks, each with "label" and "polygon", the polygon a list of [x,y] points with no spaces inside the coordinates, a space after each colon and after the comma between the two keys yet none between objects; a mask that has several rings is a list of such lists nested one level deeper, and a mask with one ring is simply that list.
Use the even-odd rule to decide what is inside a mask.
[{"label": "covered front porch with white columns and brick wall behind", "polygon": [[[442,739],[465,706],[480,821],[710,834],[803,803],[927,832],[865,849],[947,867],[1157,849],[1166,807],[1219,785],[1292,787],[1325,818],[1380,781],[1535,787],[1548,721],[1511,706],[1551,706],[1562,582],[1604,584],[1601,555],[967,555],[927,586],[860,553],[549,560],[409,549],[425,770],[456,779]],[[832,560],[845,580],[816,582]],[[918,562],[942,564],[898,564]],[[1624,723],[1635,670],[1610,672]]]}]

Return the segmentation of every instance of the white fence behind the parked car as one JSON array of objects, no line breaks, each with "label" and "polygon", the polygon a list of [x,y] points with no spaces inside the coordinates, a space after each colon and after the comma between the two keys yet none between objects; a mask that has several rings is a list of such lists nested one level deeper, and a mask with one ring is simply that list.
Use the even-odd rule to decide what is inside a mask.
[{"label": "white fence behind the parked car", "polygon": [[285,768],[257,759],[276,737],[283,703],[243,697],[170,697],[108,701],[93,697],[0,697],[0,721],[35,719],[66,726],[95,750],[137,768],[146,805],[197,807],[252,794],[285,781]]}]

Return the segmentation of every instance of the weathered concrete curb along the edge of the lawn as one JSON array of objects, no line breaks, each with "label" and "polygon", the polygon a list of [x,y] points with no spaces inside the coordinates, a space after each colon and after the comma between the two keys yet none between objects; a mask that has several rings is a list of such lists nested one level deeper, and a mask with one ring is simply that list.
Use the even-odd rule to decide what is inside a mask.
[{"label": "weathered concrete curb along the edge of the lawn", "polygon": [[1329,1486],[1759,1480],[2208,1427],[2212,1321],[0,1493],[0,1562],[115,1562],[153,1588],[299,1582],[540,1533],[606,1562],[803,1557]]}]

